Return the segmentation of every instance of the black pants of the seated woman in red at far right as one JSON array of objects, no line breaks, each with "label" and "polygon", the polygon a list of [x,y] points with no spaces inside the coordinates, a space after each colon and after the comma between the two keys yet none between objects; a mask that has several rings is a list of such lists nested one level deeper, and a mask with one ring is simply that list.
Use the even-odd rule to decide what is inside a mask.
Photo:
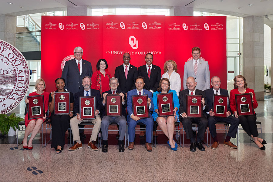
[{"label": "black pants of the seated woman in red at far right", "polygon": [[251,136],[251,134],[253,137],[259,136],[256,125],[256,113],[253,116],[239,116],[238,118],[240,119],[240,124],[244,131],[248,133],[248,136]]}]

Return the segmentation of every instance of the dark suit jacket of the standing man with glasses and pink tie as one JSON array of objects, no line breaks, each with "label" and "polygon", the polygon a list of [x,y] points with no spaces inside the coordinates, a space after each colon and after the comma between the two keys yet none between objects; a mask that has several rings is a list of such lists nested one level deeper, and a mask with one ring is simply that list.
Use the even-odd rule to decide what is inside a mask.
[{"label": "dark suit jacket of the standing man with glasses and pink tie", "polygon": [[138,76],[137,68],[130,64],[130,68],[128,71],[127,79],[125,78],[125,72],[123,68],[123,64],[116,67],[115,77],[119,79],[118,89],[123,90],[127,93],[130,90],[136,88],[135,78]]}]

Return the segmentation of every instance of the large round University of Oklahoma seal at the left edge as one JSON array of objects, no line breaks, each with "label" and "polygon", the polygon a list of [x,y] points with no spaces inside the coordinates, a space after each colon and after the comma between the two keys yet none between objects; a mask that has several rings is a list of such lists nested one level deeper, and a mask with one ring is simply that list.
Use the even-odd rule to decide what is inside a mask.
[{"label": "large round University of Oklahoma seal at the left edge", "polygon": [[22,53],[0,40],[0,114],[12,111],[29,89],[29,66]]}]

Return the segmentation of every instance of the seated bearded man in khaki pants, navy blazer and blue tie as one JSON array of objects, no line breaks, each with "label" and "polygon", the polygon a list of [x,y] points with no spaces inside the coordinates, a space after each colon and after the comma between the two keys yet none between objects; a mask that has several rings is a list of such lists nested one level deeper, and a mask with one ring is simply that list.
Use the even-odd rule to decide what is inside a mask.
[{"label": "seated bearded man in khaki pants, navy blazer and blue tie", "polygon": [[[75,145],[70,147],[68,150],[77,150],[83,148],[83,145],[80,140],[79,136],[79,123],[82,122],[92,122],[94,124],[92,134],[90,137],[90,140],[88,142],[87,147],[91,148],[92,150],[98,150],[98,147],[96,147],[94,141],[97,139],[97,135],[100,130],[101,126],[101,118],[99,116],[99,110],[100,110],[100,105],[101,105],[101,97],[100,97],[100,92],[99,90],[91,89],[91,78],[89,76],[85,76],[82,80],[82,85],[83,85],[83,91],[80,91],[75,94],[74,96],[74,107],[73,107],[73,113],[76,115],[70,120],[70,125],[71,125],[71,130],[73,134],[73,140],[76,141]],[[87,97],[87,96],[95,96],[95,116],[96,118],[93,120],[83,120],[80,118],[80,103],[79,103],[79,97]]]}]

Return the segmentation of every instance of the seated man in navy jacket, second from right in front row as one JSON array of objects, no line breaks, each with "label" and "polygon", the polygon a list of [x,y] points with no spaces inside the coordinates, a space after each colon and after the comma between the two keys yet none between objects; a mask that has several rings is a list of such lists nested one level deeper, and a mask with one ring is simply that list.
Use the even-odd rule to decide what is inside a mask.
[{"label": "seated man in navy jacket, second from right in front row", "polygon": [[230,139],[231,139],[231,137],[236,138],[236,131],[239,126],[240,120],[239,120],[239,118],[231,116],[229,103],[228,103],[228,108],[227,108],[227,112],[226,112],[226,116],[227,116],[226,118],[214,116],[215,113],[212,111],[214,94],[228,96],[228,92],[225,89],[220,89],[221,80],[218,76],[214,76],[211,78],[211,85],[212,85],[212,88],[205,90],[205,94],[207,96],[207,105],[208,105],[208,110],[209,110],[209,112],[207,112],[207,114],[208,114],[207,121],[208,121],[208,126],[209,126],[209,129],[211,132],[211,136],[213,138],[213,144],[211,145],[211,148],[217,149],[217,147],[219,145],[219,142],[217,139],[215,123],[225,122],[227,124],[230,124],[230,127],[227,132],[227,137],[224,140],[224,146],[237,149],[238,147],[236,145],[234,145],[233,143],[231,143]]}]

